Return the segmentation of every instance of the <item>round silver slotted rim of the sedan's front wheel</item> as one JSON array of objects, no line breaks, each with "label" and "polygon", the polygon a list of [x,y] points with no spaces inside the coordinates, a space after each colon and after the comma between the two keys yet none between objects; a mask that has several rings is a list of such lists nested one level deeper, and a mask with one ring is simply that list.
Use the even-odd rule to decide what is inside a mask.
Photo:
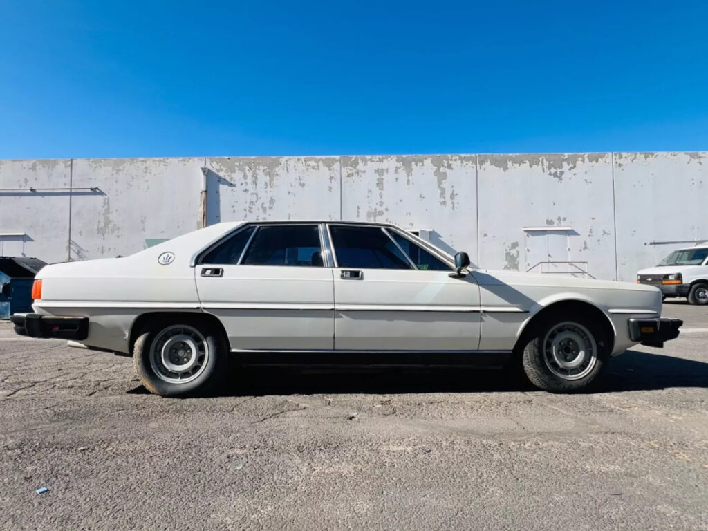
[{"label": "round silver slotted rim of the sedan's front wheel", "polygon": [[562,379],[586,377],[598,362],[598,346],[593,334],[573,321],[556,324],[546,334],[542,348],[546,367]]}]

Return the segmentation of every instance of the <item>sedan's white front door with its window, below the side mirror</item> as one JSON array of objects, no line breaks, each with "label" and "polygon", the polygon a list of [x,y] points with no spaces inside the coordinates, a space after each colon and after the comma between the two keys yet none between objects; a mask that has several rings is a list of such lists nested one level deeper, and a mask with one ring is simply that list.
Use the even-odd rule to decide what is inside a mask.
[{"label": "sedan's white front door with its window, below the side mirror", "polygon": [[328,228],[336,350],[478,348],[479,286],[472,275],[451,278],[450,264],[392,228]]}]

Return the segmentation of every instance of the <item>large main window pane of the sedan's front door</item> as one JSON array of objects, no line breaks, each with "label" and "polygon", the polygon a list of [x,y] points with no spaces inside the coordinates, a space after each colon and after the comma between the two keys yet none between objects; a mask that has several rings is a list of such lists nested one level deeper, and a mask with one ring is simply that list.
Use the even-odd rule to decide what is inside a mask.
[{"label": "large main window pane of the sedan's front door", "polygon": [[378,227],[333,225],[329,232],[341,268],[413,269],[392,239]]}]

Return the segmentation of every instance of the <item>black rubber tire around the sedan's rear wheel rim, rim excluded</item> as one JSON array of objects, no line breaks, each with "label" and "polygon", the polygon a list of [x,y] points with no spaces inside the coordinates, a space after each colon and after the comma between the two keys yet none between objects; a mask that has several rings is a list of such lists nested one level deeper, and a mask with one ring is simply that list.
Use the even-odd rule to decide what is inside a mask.
[{"label": "black rubber tire around the sedan's rear wheel rim, rim excluded", "polygon": [[[201,374],[191,382],[184,384],[165,382],[164,379],[161,379],[155,374],[150,363],[150,352],[153,341],[157,336],[159,336],[161,331],[166,329],[168,326],[173,326],[176,324],[192,326],[200,331],[202,336],[205,338],[207,348],[209,348],[209,357],[207,358],[204,370],[202,370]],[[149,392],[152,392],[153,394],[159,394],[160,396],[193,396],[209,394],[215,390],[217,383],[221,381],[224,373],[227,356],[223,343],[224,342],[217,335],[217,333],[215,333],[215,331],[210,329],[208,326],[191,324],[188,322],[175,322],[169,324],[160,323],[144,330],[138,336],[135,341],[135,347],[133,348],[133,363],[140,380]]]}]

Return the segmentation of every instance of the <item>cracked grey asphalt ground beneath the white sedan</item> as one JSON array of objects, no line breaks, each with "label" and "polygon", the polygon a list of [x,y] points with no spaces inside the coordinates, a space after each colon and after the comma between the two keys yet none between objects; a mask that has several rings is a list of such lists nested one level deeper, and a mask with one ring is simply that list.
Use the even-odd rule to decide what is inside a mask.
[{"label": "cracked grey asphalt ground beneath the white sedan", "polygon": [[708,530],[708,308],[664,314],[680,338],[612,360],[592,394],[249,369],[204,399],[3,321],[0,528]]}]

